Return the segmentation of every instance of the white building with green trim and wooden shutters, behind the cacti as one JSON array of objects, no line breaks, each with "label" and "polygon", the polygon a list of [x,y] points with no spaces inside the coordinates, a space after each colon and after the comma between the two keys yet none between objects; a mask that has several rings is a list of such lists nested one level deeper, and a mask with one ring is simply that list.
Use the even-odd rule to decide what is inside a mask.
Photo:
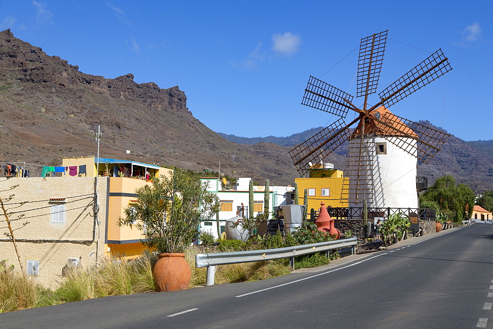
[{"label": "white building with green trim and wooden shutters, behind the cacti", "polygon": [[[217,232],[216,218],[204,220],[200,223],[200,231],[209,231],[215,237],[224,232],[226,220],[235,217],[237,214],[242,216],[242,203],[245,215],[248,214],[248,188],[250,178],[239,178],[236,181],[234,190],[223,190],[222,182],[217,177],[202,177],[201,182],[206,182],[208,191],[217,195],[221,204],[219,212],[219,233]],[[270,186],[269,187],[269,212],[274,211],[274,207],[279,207],[290,203],[290,195],[294,190],[291,186]],[[253,216],[264,211],[265,186],[253,187]]]}]

